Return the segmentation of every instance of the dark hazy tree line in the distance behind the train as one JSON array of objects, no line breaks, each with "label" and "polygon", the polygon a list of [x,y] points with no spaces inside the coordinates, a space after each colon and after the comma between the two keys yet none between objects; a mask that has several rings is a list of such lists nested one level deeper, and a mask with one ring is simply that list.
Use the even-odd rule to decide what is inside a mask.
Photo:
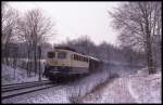
[{"label": "dark hazy tree line in the distance behind the train", "polygon": [[145,53],[136,52],[127,47],[118,48],[106,42],[102,42],[101,44],[96,45],[88,36],[83,36],[74,40],[67,40],[65,43],[55,45],[66,45],[74,48],[80,53],[98,57],[108,64],[114,64],[118,62],[128,65],[146,65]]}]

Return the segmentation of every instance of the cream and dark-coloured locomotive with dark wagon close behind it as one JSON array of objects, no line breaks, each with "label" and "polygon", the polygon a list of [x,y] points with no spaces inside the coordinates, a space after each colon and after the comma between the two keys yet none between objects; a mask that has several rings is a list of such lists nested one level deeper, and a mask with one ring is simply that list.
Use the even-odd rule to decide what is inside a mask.
[{"label": "cream and dark-coloured locomotive with dark wagon close behind it", "polygon": [[55,47],[47,53],[43,75],[50,80],[84,76],[101,66],[102,62],[98,58],[78,53],[70,47]]}]

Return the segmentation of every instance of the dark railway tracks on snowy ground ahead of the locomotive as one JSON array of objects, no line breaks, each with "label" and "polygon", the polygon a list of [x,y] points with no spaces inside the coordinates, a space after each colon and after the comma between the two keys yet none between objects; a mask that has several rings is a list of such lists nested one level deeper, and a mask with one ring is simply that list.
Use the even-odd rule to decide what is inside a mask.
[{"label": "dark railway tracks on snowy ground ahead of the locomotive", "polygon": [[45,80],[45,81],[35,81],[35,82],[25,82],[25,83],[16,83],[16,84],[7,84],[2,86],[1,91],[1,99],[10,99],[17,95],[57,87],[59,84],[53,84],[52,82]]}]

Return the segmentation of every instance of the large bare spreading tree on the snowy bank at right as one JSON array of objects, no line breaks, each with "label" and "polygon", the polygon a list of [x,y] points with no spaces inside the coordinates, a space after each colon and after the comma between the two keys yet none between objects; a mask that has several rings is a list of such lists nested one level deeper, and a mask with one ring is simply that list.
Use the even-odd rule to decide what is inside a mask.
[{"label": "large bare spreading tree on the snowy bank at right", "polygon": [[161,2],[127,2],[109,14],[113,17],[114,27],[121,30],[121,42],[143,49],[149,74],[155,73],[151,43],[152,36],[161,35]]}]

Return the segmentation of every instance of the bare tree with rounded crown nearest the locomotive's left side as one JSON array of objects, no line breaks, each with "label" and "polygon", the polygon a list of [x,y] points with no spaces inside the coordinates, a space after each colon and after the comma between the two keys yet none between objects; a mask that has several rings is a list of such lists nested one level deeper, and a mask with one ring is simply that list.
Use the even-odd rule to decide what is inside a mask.
[{"label": "bare tree with rounded crown nearest the locomotive's left side", "polygon": [[[39,9],[28,11],[22,22],[22,31],[28,47],[28,60],[34,58],[35,75],[37,70],[37,48],[46,40],[53,24],[46,17]],[[29,65],[28,65],[29,68]]]}]

